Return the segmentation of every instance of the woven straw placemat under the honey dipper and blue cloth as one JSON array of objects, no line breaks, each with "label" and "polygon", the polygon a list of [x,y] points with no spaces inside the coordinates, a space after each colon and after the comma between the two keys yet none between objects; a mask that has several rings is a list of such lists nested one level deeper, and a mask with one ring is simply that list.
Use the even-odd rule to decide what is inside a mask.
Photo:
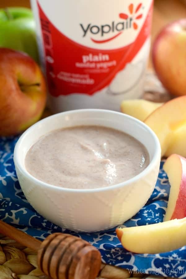
[{"label": "woven straw placemat under the honey dipper and blue cloth", "polygon": [[[97,279],[125,279],[129,277],[145,278],[145,275],[102,263]],[[2,234],[0,234],[0,278],[50,279],[38,268],[35,251]]]}]

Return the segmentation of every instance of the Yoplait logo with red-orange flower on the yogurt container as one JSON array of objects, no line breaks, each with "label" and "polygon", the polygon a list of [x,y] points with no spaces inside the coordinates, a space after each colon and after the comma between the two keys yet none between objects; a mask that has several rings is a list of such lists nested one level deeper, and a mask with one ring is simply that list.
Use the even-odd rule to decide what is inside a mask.
[{"label": "Yoplait logo with red-orange flower on the yogurt container", "polygon": [[124,21],[115,22],[112,21],[111,24],[103,24],[103,25],[92,25],[91,23],[87,24],[85,27],[82,23],[80,24],[82,31],[83,31],[83,37],[85,37],[87,34],[96,35],[100,34],[101,37],[104,37],[105,34],[108,33],[117,33],[107,39],[101,39],[96,40],[94,38],[90,38],[92,42],[95,43],[105,43],[109,42],[118,36],[120,36],[124,30],[133,28],[134,30],[138,29],[137,21],[140,20],[143,17],[143,14],[141,13],[142,9],[142,3],[139,3],[136,7],[134,7],[134,4],[130,4],[128,6],[128,13],[120,13],[119,18],[121,18]]}]

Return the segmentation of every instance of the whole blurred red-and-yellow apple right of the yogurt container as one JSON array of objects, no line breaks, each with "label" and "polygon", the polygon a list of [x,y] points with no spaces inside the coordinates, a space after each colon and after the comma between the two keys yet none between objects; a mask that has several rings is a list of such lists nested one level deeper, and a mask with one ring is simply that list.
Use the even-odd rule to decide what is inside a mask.
[{"label": "whole blurred red-and-yellow apple right of the yogurt container", "polygon": [[173,95],[186,94],[186,19],[168,24],[153,44],[153,65],[158,78]]}]

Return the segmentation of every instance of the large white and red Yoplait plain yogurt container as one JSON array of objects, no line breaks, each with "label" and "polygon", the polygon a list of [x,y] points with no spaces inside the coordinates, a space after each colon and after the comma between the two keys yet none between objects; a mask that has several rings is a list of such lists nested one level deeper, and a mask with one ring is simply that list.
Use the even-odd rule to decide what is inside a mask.
[{"label": "large white and red Yoplait plain yogurt container", "polygon": [[153,0],[31,0],[53,112],[143,94]]}]

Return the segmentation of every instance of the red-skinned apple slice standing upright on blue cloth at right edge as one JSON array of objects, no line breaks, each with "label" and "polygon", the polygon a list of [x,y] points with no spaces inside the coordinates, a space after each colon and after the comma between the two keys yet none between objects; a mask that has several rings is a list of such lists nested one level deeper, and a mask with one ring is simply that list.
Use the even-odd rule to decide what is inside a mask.
[{"label": "red-skinned apple slice standing upright on blue cloth at right edge", "polygon": [[170,182],[169,201],[164,221],[186,217],[186,159],[172,154],[163,169]]}]

